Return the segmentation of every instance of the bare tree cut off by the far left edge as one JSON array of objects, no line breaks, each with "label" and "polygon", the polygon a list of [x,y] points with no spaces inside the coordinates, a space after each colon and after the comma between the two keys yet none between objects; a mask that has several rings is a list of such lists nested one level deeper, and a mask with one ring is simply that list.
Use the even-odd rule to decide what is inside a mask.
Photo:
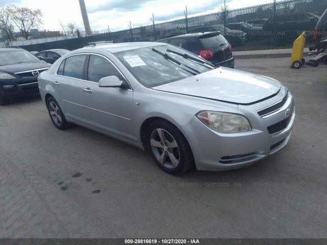
[{"label": "bare tree cut off by the far left edge", "polygon": [[6,40],[6,45],[15,40],[13,33],[14,25],[10,19],[8,7],[2,5],[0,6],[0,35]]}]

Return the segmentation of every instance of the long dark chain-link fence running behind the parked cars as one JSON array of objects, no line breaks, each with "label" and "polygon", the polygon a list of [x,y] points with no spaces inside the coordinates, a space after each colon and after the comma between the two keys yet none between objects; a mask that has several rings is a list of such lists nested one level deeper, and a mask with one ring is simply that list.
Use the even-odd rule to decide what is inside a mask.
[{"label": "long dark chain-link fence running behind the parked cars", "polygon": [[325,9],[327,0],[286,0],[235,10],[222,7],[218,13],[117,32],[95,32],[97,35],[25,45],[24,48],[29,51],[51,48],[75,50],[89,42],[157,41],[172,35],[207,31],[220,31],[233,49],[240,51],[290,48],[303,31],[307,31],[306,46],[310,46],[315,25]]}]

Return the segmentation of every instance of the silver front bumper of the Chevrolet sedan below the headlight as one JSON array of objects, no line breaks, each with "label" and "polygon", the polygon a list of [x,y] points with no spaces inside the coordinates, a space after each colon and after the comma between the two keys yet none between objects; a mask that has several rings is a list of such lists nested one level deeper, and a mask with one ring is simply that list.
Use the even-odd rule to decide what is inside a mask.
[{"label": "silver front bumper of the Chevrolet sedan below the headlight", "polygon": [[[291,111],[288,117],[286,111]],[[287,144],[294,124],[293,99],[285,110],[270,117],[262,118],[256,113],[247,117],[253,129],[240,133],[218,133],[205,126],[196,116],[181,127],[190,143],[198,170],[219,171],[245,167],[281,150]],[[269,133],[268,128],[271,130],[271,127],[282,124],[285,119],[289,119],[285,128]]]}]

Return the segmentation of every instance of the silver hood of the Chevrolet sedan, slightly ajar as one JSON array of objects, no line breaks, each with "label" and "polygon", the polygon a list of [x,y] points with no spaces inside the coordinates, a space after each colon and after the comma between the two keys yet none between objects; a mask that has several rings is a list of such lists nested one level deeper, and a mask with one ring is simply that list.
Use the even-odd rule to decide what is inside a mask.
[{"label": "silver hood of the Chevrolet sedan, slightly ajar", "polygon": [[219,67],[152,89],[248,105],[274,96],[281,87],[281,83],[268,77]]}]

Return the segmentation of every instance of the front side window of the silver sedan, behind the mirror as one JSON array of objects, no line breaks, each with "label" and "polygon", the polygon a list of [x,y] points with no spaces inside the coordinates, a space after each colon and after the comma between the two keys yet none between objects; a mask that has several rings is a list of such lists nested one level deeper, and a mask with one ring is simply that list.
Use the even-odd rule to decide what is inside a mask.
[{"label": "front side window of the silver sedan, behind the mirror", "polygon": [[123,79],[120,72],[107,59],[91,55],[88,63],[87,80],[98,83],[100,79],[109,76],[116,76],[119,80]]}]

